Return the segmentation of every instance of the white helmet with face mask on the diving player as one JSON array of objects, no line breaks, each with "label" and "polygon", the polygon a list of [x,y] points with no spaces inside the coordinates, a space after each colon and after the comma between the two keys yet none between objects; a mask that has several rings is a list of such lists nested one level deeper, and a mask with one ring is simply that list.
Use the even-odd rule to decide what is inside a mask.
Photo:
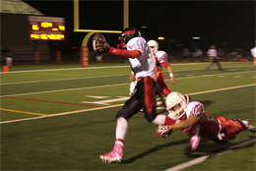
[{"label": "white helmet with face mask on the diving player", "polygon": [[[186,113],[187,101],[185,97],[176,91],[171,91],[166,98],[166,110],[175,118],[179,119]],[[180,104],[181,107],[176,111],[173,110],[173,107],[177,104]],[[183,110],[183,112],[181,112]]]}]

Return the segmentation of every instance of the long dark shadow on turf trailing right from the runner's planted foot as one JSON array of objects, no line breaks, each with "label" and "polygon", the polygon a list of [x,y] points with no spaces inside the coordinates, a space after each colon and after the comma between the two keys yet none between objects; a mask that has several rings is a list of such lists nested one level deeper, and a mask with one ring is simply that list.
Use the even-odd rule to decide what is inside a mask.
[{"label": "long dark shadow on turf trailing right from the runner's planted foot", "polygon": [[157,145],[149,150],[146,150],[145,152],[142,152],[141,154],[139,155],[136,155],[130,159],[127,159],[127,160],[122,160],[121,164],[128,164],[128,163],[132,163],[134,162],[135,160],[139,159],[139,158],[142,158],[150,153],[154,153],[158,150],[160,150],[161,148],[164,148],[164,147],[169,147],[169,146],[172,146],[172,145],[175,145],[175,144],[181,144],[181,143],[187,143],[188,141],[187,140],[183,140],[183,141],[179,141],[179,142],[168,142],[168,143],[165,143],[165,144],[160,144],[160,145]]}]

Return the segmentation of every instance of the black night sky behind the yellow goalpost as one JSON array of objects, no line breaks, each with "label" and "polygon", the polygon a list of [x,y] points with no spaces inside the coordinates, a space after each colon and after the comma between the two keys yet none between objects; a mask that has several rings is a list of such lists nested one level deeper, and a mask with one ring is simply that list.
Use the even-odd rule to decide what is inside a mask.
[{"label": "black night sky behind the yellow goalpost", "polygon": [[[23,0],[48,17],[66,19],[66,44],[79,46],[87,32],[73,32],[73,0]],[[129,0],[129,26],[147,39],[164,36],[184,46],[250,49],[256,39],[256,0]],[[147,28],[141,28],[146,26]],[[123,0],[80,0],[80,28],[121,30]],[[104,33],[115,46],[118,34]],[[164,50],[164,49],[163,49]]]}]

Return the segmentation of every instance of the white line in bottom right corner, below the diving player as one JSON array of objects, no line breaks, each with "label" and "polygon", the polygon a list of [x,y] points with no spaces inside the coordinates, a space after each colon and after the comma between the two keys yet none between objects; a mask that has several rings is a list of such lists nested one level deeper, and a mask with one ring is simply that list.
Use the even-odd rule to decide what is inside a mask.
[{"label": "white line in bottom right corner, below the diving player", "polygon": [[227,149],[225,149],[225,150],[223,150],[223,151],[211,153],[211,154],[209,154],[209,155],[205,155],[205,156],[196,158],[196,159],[194,159],[194,160],[191,160],[191,161],[188,161],[188,162],[186,162],[186,163],[183,163],[183,164],[180,164],[180,165],[171,167],[171,168],[166,169],[166,170],[164,170],[164,171],[178,171],[178,170],[184,169],[184,168],[186,168],[186,167],[190,167],[190,166],[192,166],[192,165],[195,165],[195,164],[198,164],[198,163],[200,163],[200,162],[203,162],[203,161],[205,161],[205,160],[207,160],[207,159],[220,156],[220,155],[222,155],[222,154],[224,154],[224,153],[226,153],[226,152],[232,151],[233,149],[246,146],[246,145],[248,145],[248,144],[250,144],[250,143],[253,143],[253,142],[256,142],[256,138],[251,139],[250,141],[247,141],[247,142],[241,142],[241,143],[238,143],[238,144],[236,144],[236,145],[230,146],[230,147],[228,147]]}]

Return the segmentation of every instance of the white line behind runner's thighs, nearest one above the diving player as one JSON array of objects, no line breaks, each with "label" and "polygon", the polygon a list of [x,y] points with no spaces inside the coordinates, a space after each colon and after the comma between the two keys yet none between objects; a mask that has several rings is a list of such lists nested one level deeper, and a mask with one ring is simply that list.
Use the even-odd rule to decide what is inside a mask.
[{"label": "white line behind runner's thighs, nearest one above the diving player", "polygon": [[[190,95],[196,95],[196,94],[209,93],[209,92],[215,92],[215,91],[221,91],[221,90],[227,90],[227,89],[234,89],[234,88],[246,87],[246,86],[253,86],[253,85],[256,85],[256,84],[252,84],[252,85],[240,85],[240,86],[233,86],[233,87],[226,87],[226,88],[222,88],[222,89],[207,90],[207,91],[195,92],[195,93],[188,93],[188,94],[190,94]],[[84,109],[84,110],[71,111],[71,112],[63,112],[63,113],[52,114],[52,115],[47,115],[47,116],[39,116],[39,117],[32,117],[32,118],[25,118],[25,119],[11,120],[11,121],[3,121],[3,122],[0,122],[0,125],[1,125],[1,124],[14,123],[14,122],[20,122],[20,121],[29,121],[29,120],[35,120],[35,119],[53,117],[53,116],[62,116],[62,115],[80,113],[80,112],[88,112],[88,111],[106,109],[106,108],[111,108],[111,107],[117,107],[117,106],[121,106],[121,105],[123,105],[123,103],[122,103],[122,104],[110,105],[110,106],[96,107],[96,108],[92,108],[92,109]]]}]

